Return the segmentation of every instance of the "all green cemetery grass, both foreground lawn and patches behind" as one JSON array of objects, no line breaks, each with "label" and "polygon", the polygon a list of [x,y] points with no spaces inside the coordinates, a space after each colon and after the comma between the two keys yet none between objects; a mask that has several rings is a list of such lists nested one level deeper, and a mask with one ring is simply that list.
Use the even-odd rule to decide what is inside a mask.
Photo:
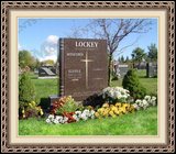
[{"label": "all green cemetery grass, both foreground lawn and patches behind", "polygon": [[[145,70],[139,70],[138,74],[147,95],[156,95],[157,78],[146,78]],[[58,79],[37,79],[33,74],[31,79],[35,84],[38,100],[57,94]],[[114,80],[111,86],[121,84],[122,79]],[[157,106],[118,118],[68,124],[48,124],[44,118],[19,120],[19,135],[157,135]]]}]

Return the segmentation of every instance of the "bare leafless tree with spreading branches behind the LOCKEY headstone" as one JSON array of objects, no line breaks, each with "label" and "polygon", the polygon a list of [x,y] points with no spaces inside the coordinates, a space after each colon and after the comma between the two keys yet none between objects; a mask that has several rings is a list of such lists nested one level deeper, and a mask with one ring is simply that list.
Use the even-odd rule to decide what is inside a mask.
[{"label": "bare leafless tree with spreading branches behind the LOCKEY headstone", "polygon": [[110,75],[112,72],[111,62],[114,52],[123,52],[124,48],[133,45],[132,44],[119,48],[121,42],[132,33],[144,33],[148,31],[150,20],[146,19],[95,19],[88,25],[90,31],[97,38],[106,38],[108,44],[109,55],[109,85]]}]

